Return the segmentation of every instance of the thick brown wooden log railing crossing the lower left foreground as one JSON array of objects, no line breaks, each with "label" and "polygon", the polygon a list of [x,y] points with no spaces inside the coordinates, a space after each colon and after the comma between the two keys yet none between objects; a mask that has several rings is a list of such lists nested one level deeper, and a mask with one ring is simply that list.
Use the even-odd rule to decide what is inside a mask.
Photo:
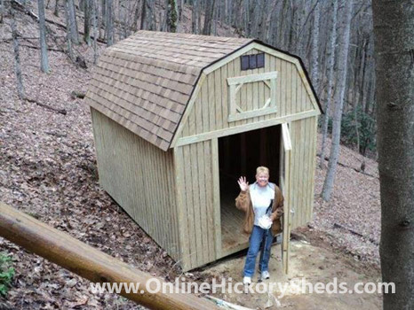
[{"label": "thick brown wooden log railing crossing the lower left foreground", "polygon": [[[121,295],[150,309],[219,309],[211,301],[188,293],[150,293],[147,287],[149,291],[156,290],[154,281],[147,283],[153,276],[1,202],[0,236],[93,283],[139,283],[142,293],[127,293],[123,289]],[[159,281],[163,283],[162,279]]]}]

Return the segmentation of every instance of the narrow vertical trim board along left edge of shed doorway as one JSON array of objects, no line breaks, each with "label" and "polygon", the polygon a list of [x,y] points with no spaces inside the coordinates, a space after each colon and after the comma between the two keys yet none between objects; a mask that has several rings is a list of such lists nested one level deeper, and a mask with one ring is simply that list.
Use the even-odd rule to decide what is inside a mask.
[{"label": "narrow vertical trim board along left edge of shed doorway", "polygon": [[221,258],[221,218],[220,218],[220,184],[219,184],[219,139],[211,139],[211,181],[214,212],[214,244],[216,246],[216,259]]}]

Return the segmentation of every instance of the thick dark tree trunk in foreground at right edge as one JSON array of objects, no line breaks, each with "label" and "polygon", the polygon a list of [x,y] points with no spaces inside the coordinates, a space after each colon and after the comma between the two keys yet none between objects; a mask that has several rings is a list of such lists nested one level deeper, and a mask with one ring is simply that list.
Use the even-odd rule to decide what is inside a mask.
[{"label": "thick dark tree trunk in foreground at right edge", "polygon": [[414,309],[414,7],[373,0],[384,310]]}]

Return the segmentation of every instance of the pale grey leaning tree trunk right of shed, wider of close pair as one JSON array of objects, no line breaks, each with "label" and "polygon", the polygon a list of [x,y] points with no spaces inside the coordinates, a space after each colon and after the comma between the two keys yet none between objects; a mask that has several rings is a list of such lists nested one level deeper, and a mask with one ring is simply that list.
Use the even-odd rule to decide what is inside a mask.
[{"label": "pale grey leaning tree trunk right of shed, wider of close pair", "polygon": [[346,69],[347,69],[347,58],[349,50],[349,34],[351,26],[351,12],[352,2],[348,0],[338,1],[338,16],[341,17],[341,24],[339,27],[338,35],[338,81],[335,96],[335,111],[333,114],[332,121],[332,144],[330,146],[330,162],[328,165],[328,172],[323,182],[322,198],[325,201],[330,200],[330,194],[333,189],[333,181],[335,179],[335,172],[337,169],[338,156],[339,156],[339,142],[340,142],[340,124],[342,120],[342,110],[345,101],[345,90],[346,90]]}]

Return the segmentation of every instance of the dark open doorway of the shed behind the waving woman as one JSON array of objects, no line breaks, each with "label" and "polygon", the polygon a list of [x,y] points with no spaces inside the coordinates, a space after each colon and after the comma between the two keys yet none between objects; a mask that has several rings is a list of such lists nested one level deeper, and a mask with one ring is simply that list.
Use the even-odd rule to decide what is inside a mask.
[{"label": "dark open doorway of the shed behind the waving woman", "polygon": [[281,126],[219,138],[219,183],[222,256],[238,252],[249,244],[243,234],[244,213],[235,208],[240,192],[238,178],[255,182],[256,168],[270,170],[270,182],[279,185]]}]

